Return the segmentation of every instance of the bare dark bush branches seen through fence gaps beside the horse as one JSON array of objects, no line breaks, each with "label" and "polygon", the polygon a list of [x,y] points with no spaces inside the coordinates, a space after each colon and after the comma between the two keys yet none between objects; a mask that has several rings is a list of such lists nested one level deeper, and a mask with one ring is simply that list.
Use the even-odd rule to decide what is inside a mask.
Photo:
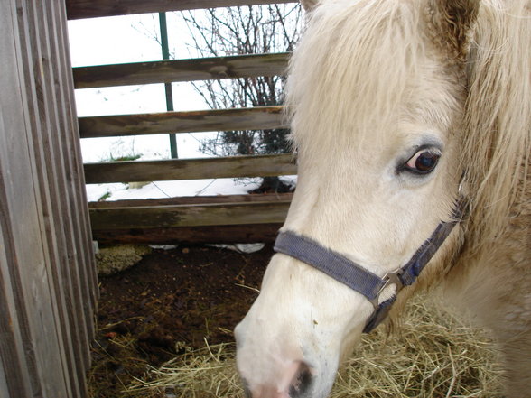
[{"label": "bare dark bush branches seen through fence gaps beside the horse", "polygon": [[[293,51],[302,31],[300,5],[253,5],[182,13],[191,32],[189,49],[201,57]],[[278,105],[284,77],[223,79],[194,83],[208,106]],[[221,132],[204,142],[210,154],[288,151],[285,129]]]}]

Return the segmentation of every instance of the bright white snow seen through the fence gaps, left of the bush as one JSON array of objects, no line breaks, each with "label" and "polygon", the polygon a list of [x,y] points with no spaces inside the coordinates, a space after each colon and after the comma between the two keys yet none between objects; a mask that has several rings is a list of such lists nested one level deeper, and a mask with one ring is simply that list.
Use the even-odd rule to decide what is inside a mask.
[{"label": "bright white snow seen through the fence gaps, left of the bush", "polygon": [[[190,58],[186,42],[188,29],[176,13],[167,14],[170,52],[175,58]],[[124,15],[69,21],[72,66],[161,60],[157,14]],[[207,108],[191,83],[173,83],[175,110]],[[86,88],[76,90],[78,116],[126,115],[164,112],[166,110],[163,84],[124,86],[116,88]],[[201,140],[217,133],[176,134],[181,159],[204,158]],[[124,156],[140,155],[139,160],[170,158],[168,134],[133,137],[89,138],[81,140],[83,162],[107,162]],[[294,183],[295,177],[286,177]],[[137,184],[89,184],[89,201],[167,198],[175,196],[245,194],[258,187],[260,180],[249,181],[180,180],[155,181],[141,188]]]}]

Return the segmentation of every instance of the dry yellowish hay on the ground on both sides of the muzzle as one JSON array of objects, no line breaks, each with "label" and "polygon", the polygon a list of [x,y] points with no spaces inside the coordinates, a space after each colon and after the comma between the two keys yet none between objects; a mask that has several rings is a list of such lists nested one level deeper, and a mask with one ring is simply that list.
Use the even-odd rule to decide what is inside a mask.
[{"label": "dry yellowish hay on the ground on both sides of the muzzle", "polygon": [[[385,329],[364,336],[341,367],[331,398],[500,397],[497,356],[480,330],[427,310],[421,297],[395,335]],[[382,330],[380,330],[382,329]],[[188,351],[136,380],[128,393],[167,398],[243,398],[232,344]]]}]

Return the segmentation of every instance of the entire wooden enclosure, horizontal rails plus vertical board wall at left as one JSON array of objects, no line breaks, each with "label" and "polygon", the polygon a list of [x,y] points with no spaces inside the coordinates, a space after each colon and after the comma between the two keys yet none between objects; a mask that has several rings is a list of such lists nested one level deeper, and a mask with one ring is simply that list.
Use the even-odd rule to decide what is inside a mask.
[{"label": "entire wooden enclosure, horizontal rails plus vertical board wall at left", "polygon": [[[277,106],[81,118],[78,123],[67,13],[87,18],[265,2],[0,2],[0,397],[86,397],[98,299],[92,236],[101,242],[143,243],[267,240],[275,236],[291,199],[128,200],[93,203],[89,210],[85,174],[92,183],[267,176],[293,174],[295,165],[291,155],[272,155],[83,166],[79,134],[154,134],[168,125],[172,132],[188,132],[284,124]],[[266,54],[80,68],[74,76],[77,88],[230,79],[282,73],[286,58]]]}]

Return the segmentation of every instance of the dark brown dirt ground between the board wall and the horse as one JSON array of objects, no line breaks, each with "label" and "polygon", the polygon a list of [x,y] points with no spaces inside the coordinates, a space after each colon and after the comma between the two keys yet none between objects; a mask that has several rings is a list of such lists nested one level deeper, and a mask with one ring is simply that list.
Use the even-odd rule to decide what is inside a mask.
[{"label": "dark brown dirt ground between the board wall and the horse", "polygon": [[91,398],[124,398],[124,387],[187,347],[232,342],[255,300],[272,247],[254,254],[210,246],[156,249],[133,268],[100,277]]}]

